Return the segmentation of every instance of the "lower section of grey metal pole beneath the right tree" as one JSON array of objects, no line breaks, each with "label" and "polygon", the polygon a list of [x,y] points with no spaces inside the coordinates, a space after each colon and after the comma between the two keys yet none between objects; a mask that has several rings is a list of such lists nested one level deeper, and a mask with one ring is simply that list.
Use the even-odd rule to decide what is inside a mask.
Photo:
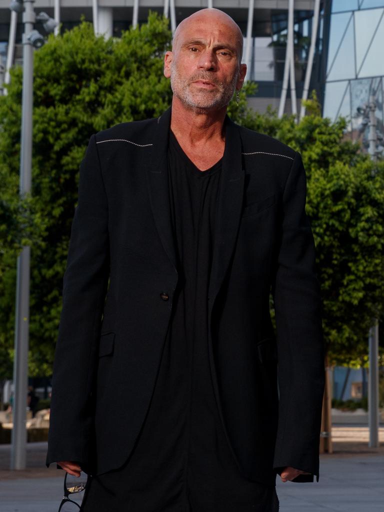
[{"label": "lower section of grey metal pole beneath the right tree", "polygon": [[371,448],[379,447],[379,372],[378,372],[378,339],[379,324],[377,320],[375,325],[369,331],[369,393],[368,393],[368,417],[369,417],[369,446]]}]

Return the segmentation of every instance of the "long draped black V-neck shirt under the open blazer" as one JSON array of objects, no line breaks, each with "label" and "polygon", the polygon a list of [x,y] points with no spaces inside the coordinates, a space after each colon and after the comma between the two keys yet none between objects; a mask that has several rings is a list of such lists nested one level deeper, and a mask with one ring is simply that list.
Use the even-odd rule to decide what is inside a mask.
[{"label": "long draped black V-neck shirt under the open blazer", "polygon": [[170,132],[169,200],[179,281],[155,390],[129,460],[120,471],[95,477],[84,510],[104,511],[93,508],[103,500],[104,506],[113,500],[116,510],[124,506],[130,512],[278,510],[274,487],[239,473],[212,388],[208,285],[221,167],[219,160],[199,170]]}]

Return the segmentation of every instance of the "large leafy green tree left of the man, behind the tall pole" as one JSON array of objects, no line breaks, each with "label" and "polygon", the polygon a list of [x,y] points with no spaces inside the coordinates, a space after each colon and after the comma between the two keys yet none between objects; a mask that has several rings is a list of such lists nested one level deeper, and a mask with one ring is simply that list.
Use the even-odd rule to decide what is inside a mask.
[{"label": "large leafy green tree left of the man, behind the tall pole", "polygon": [[18,198],[22,69],[12,70],[8,95],[0,97],[0,366],[8,377],[18,251],[32,246],[30,375],[50,375],[79,164],[92,134],[169,106],[162,69],[170,39],[168,20],[151,14],[119,39],[95,37],[83,22],[35,52],[32,192],[24,201]]}]

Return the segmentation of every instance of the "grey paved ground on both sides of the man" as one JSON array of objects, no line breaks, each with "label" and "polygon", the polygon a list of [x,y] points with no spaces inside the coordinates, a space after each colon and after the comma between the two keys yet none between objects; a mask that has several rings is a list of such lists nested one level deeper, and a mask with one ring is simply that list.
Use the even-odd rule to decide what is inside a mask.
[{"label": "grey paved ground on both sides of the man", "polygon": [[[379,449],[368,448],[366,427],[337,427],[332,433],[334,453],[321,456],[318,483],[278,481],[281,512],[384,510],[384,428]],[[29,444],[27,470],[11,472],[10,446],[0,445],[0,512],[57,511],[64,475],[53,464],[45,467],[45,453],[46,443]]]}]

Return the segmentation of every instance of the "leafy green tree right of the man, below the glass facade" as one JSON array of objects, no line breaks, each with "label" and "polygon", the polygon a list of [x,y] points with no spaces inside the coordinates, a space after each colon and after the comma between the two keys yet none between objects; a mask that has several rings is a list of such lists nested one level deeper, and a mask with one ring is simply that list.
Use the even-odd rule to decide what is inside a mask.
[{"label": "leafy green tree right of the man, below the glass facade", "polygon": [[295,124],[269,111],[248,116],[247,126],[302,154],[329,360],[359,366],[372,319],[383,313],[384,162],[346,138],[345,119],[322,118],[315,95],[307,114]]}]

